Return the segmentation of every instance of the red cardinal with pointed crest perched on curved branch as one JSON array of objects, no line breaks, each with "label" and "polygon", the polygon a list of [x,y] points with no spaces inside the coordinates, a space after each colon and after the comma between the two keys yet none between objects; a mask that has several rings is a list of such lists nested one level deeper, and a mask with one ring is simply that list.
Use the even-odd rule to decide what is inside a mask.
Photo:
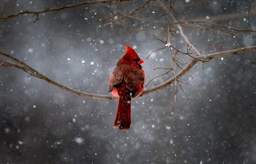
[{"label": "red cardinal with pointed crest perched on curved branch", "polygon": [[114,126],[120,130],[131,127],[131,98],[139,96],[144,89],[144,63],[138,54],[128,45],[126,53],[119,59],[108,85],[108,93],[119,98]]}]

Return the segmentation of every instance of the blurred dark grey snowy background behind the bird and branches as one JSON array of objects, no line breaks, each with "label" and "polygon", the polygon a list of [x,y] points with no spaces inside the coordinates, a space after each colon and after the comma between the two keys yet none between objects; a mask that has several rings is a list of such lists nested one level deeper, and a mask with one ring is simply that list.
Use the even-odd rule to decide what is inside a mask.
[{"label": "blurred dark grey snowy background behind the bird and branches", "polygon": [[[43,10],[82,1],[2,0],[0,16],[22,10]],[[185,5],[196,0],[173,0]],[[246,13],[253,1],[211,0],[203,4],[175,9],[185,20]],[[143,1],[144,3],[144,1]],[[167,2],[166,4],[168,4]],[[142,1],[109,4],[121,12],[137,9]],[[251,10],[255,9],[252,5]],[[251,27],[256,29],[255,12]],[[164,45],[153,35],[166,38],[164,23],[142,23],[126,18],[110,27],[118,15],[104,4],[85,5],[60,12],[21,15],[0,22],[0,51],[23,60],[47,77],[79,91],[105,94],[116,62],[124,54],[124,45],[133,47],[145,61],[146,83],[171,66],[168,50],[148,55]],[[166,20],[156,6],[135,16]],[[234,14],[235,15],[235,14]],[[176,15],[177,18],[179,18]],[[248,17],[235,21],[219,18],[214,23],[249,29]],[[176,31],[175,26],[171,26]],[[184,28],[199,51],[227,36]],[[255,34],[255,33],[252,33]],[[186,51],[180,36],[171,43]],[[255,45],[255,37],[236,37],[212,47],[203,54]],[[2,58],[2,57],[1,57]],[[153,94],[132,100],[132,126],[128,131],[113,127],[117,100],[79,97],[47,82],[28,77],[16,68],[0,68],[0,163],[256,163],[256,65],[243,64],[255,53],[213,59],[190,70],[192,79],[180,80],[194,112],[182,90],[169,86]],[[180,56],[181,62],[188,57]],[[172,77],[161,76],[146,90]]]}]

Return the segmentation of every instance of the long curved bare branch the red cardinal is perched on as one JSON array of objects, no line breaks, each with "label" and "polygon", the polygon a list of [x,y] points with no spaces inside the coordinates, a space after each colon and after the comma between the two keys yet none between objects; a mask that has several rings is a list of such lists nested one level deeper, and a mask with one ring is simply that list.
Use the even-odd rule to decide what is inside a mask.
[{"label": "long curved bare branch the red cardinal is perched on", "polygon": [[[256,51],[256,46],[250,46],[250,47],[244,47],[244,48],[241,48],[241,49],[235,49],[235,50],[217,52],[217,53],[213,53],[213,54],[206,54],[206,55],[196,56],[195,59],[192,58],[190,63],[176,74],[177,79],[181,78],[184,74],[186,74],[186,72],[188,72],[200,60],[209,61],[210,59],[213,59],[213,58],[232,56],[232,55],[239,55],[239,54],[248,53],[248,52],[254,52],[254,51]],[[15,68],[21,69],[21,70],[29,73],[30,76],[34,76],[36,78],[42,79],[44,81],[47,81],[49,84],[57,86],[57,87],[61,88],[62,90],[71,92],[71,93],[76,94],[78,96],[83,96],[83,97],[88,97],[88,98],[109,99],[109,100],[116,99],[115,97],[112,97],[110,95],[91,94],[91,93],[86,93],[86,92],[81,92],[81,91],[74,90],[72,88],[69,88],[67,86],[64,86],[64,85],[62,85],[60,83],[57,83],[57,82],[51,80],[50,78],[44,76],[42,73],[38,72],[34,68],[31,68],[26,63],[24,63],[23,61],[15,58],[13,56],[10,56],[10,55],[8,55],[6,53],[3,53],[1,51],[0,51],[0,55],[8,57],[8,58],[12,59],[13,61],[15,61],[15,63],[10,63],[8,61],[4,61],[4,60],[0,59],[1,65],[3,67],[13,66]],[[198,60],[198,59],[200,59],[200,60]],[[163,88],[167,87],[168,85],[170,85],[170,84],[172,84],[174,82],[175,82],[175,77],[172,77],[169,80],[163,82],[162,84],[159,84],[159,85],[157,85],[157,86],[155,86],[155,87],[153,87],[153,88],[151,88],[149,90],[145,90],[140,96],[145,96],[145,95],[151,94],[153,92],[162,90]]]}]

